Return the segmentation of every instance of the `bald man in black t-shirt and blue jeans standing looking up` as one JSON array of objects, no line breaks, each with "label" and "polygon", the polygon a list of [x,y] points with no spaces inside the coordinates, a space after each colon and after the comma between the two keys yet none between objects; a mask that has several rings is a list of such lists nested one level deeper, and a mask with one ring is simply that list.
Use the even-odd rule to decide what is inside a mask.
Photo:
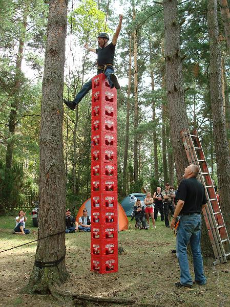
[{"label": "bald man in black t-shirt and blue jeans standing looking up", "polygon": [[187,260],[187,245],[191,245],[193,253],[193,267],[195,282],[205,284],[206,277],[203,270],[203,259],[200,249],[201,212],[207,200],[203,185],[197,180],[199,168],[191,164],[184,170],[184,179],[181,181],[176,193],[176,209],[173,214],[171,228],[175,228],[176,218],[179,216],[177,227],[176,254],[180,266],[180,281],[176,287],[191,288],[193,280],[189,271]]}]

